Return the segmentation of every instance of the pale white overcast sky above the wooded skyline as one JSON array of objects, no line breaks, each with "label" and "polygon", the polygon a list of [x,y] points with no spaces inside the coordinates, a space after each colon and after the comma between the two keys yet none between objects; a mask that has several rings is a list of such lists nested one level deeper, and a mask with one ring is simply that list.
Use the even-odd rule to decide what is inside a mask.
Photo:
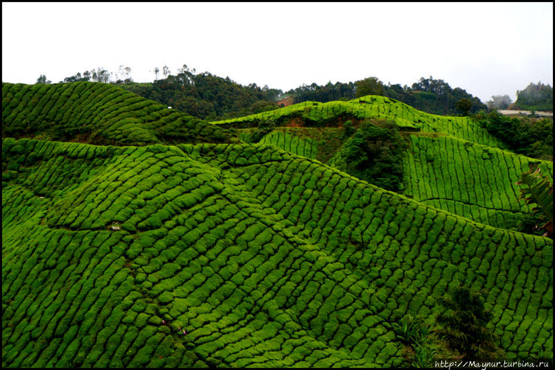
[{"label": "pale white overcast sky above the wooded skyline", "polygon": [[2,3],[2,81],[104,67],[197,72],[287,91],[441,78],[483,102],[553,86],[553,3]]}]

